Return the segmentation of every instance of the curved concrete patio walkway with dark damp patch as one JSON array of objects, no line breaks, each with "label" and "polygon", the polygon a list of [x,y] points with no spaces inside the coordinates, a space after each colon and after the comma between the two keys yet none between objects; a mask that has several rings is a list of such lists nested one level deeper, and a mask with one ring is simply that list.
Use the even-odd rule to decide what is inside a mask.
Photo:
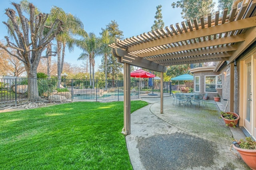
[{"label": "curved concrete patio walkway with dark damp patch", "polygon": [[160,98],[142,100],[150,104],[132,113],[131,134],[126,136],[134,170],[250,169],[230,152],[232,139],[245,136],[219,119],[221,105],[219,109],[207,101],[208,107],[175,106],[172,97],[164,97],[160,114]]}]

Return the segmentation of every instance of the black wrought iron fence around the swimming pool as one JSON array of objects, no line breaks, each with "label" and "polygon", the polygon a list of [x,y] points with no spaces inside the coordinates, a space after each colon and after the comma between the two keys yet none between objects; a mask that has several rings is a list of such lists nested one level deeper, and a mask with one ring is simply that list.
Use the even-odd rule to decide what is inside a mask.
[{"label": "black wrought iron fence around the swimming pool", "polygon": [[[164,82],[164,93],[170,93],[170,82]],[[131,82],[131,99],[146,95],[160,95],[160,81],[154,81],[151,86],[147,81]],[[0,107],[31,102],[123,99],[122,80],[0,79]]]}]

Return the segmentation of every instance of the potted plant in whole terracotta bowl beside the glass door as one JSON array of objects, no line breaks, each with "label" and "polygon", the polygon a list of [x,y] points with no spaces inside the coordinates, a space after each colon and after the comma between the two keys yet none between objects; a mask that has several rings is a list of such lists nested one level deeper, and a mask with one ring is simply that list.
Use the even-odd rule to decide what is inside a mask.
[{"label": "potted plant in whole terracotta bowl beside the glass door", "polygon": [[220,112],[220,117],[225,122],[226,126],[236,127],[238,120],[240,119],[239,115],[233,112]]}]

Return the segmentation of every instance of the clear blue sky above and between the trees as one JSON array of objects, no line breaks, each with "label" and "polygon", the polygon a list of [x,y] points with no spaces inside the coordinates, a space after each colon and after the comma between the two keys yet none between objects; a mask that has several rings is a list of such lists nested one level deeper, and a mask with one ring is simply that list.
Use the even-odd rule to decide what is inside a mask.
[{"label": "clear blue sky above and between the trees", "polygon": [[[18,3],[20,0],[0,0],[0,40],[7,35],[2,22],[8,19],[4,14],[5,9],[14,8],[11,2]],[[119,29],[124,32],[124,38],[149,32],[154,24],[156,6],[160,4],[165,26],[184,21],[181,18],[181,9],[174,9],[171,6],[174,0],[30,0],[30,2],[44,13],[49,13],[52,6],[62,8],[66,13],[80,18],[86,32],[94,32],[97,36],[101,28],[106,28],[111,20],[118,23]],[[67,51],[65,61],[80,65],[82,61],[77,61],[77,58],[81,52],[78,48],[72,53]],[[100,65],[100,57],[96,59],[96,69],[98,65]]]}]

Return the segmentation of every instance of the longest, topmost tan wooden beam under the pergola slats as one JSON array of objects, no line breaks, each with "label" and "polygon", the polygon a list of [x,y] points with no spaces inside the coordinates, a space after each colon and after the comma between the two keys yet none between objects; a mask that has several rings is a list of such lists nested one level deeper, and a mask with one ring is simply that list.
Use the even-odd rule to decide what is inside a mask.
[{"label": "longest, topmost tan wooden beam under the pergola slats", "polygon": [[191,40],[198,37],[211,36],[214,34],[220,34],[220,33],[225,33],[225,32],[230,32],[235,30],[242,30],[242,29],[247,29],[255,26],[256,26],[256,16],[246,18],[243,20],[237,20],[236,22],[229,22],[229,23],[220,24],[214,27],[208,27],[207,29],[200,29],[192,32],[187,32],[186,34],[179,34],[176,36],[171,36],[171,37],[161,38],[161,39],[150,41],[150,42],[140,43],[138,45],[127,47],[127,51],[128,52],[137,51],[140,49],[156,47],[159,45],[165,45],[170,43],[177,43],[177,42]]}]

